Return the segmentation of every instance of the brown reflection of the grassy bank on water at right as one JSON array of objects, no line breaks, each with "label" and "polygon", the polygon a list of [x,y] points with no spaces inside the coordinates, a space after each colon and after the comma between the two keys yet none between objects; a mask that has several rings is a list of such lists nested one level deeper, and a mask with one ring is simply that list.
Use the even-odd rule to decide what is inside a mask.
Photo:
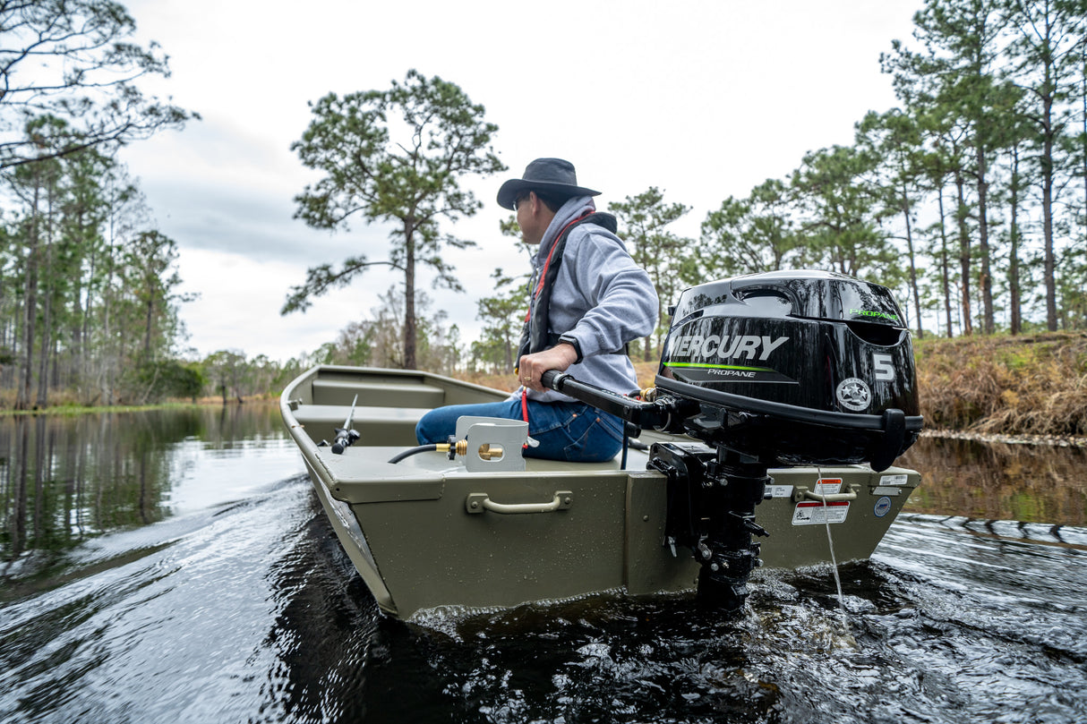
[{"label": "brown reflection of the grassy bank on water at right", "polygon": [[922,475],[910,511],[1087,525],[1087,448],[922,437],[899,464]]}]

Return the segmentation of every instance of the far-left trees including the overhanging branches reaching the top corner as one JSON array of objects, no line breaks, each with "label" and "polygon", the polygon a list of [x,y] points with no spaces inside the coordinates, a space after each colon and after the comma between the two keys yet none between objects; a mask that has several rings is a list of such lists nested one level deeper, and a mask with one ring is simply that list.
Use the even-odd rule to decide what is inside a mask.
[{"label": "far-left trees including the overhanging branches reaching the top corner", "polygon": [[199,116],[140,91],[168,68],[134,35],[116,2],[0,3],[0,385],[18,409],[58,384],[85,403],[159,395],[177,338],[176,245],[108,154]]}]

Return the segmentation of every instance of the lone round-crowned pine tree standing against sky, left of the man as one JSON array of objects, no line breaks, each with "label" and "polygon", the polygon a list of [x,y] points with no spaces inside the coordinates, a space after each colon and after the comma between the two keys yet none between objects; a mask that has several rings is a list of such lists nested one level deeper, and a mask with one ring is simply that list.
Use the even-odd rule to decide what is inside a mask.
[{"label": "lone round-crowned pine tree standing against sky, left of the man", "polygon": [[390,225],[388,260],[360,254],[337,270],[310,269],[305,282],[291,288],[282,310],[304,310],[309,299],[349,284],[375,264],[404,275],[403,363],[416,366],[415,267],[437,274],[438,284],[460,289],[441,249],[473,241],[442,235],[441,221],[475,214],[482,203],[461,187],[461,177],[505,168],[490,147],[498,126],[484,121],[460,87],[409,71],[403,84],[342,98],[329,93],[311,103],[314,120],[291,145],[302,164],[322,178],[296,197],[296,219],[310,226],[346,229],[352,215]]}]

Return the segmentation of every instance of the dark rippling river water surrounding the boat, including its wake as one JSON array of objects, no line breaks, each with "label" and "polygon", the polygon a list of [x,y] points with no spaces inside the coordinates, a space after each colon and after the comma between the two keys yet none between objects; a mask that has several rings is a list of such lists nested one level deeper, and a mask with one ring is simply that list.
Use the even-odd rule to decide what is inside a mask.
[{"label": "dark rippling river water surrounding the boat, including its wake", "polygon": [[939,485],[840,567],[848,628],[829,566],[759,572],[739,620],[604,595],[404,624],[274,408],[3,420],[0,721],[1087,720],[1084,452],[920,446]]}]

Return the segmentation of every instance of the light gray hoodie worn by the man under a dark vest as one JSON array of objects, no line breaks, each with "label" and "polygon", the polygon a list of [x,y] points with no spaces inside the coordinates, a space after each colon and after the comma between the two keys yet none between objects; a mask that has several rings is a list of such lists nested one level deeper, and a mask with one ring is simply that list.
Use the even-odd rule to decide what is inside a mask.
[{"label": "light gray hoodie worn by the man under a dark vest", "polygon": [[[533,259],[529,289],[536,288],[559,233],[590,210],[596,210],[592,198],[584,196],[569,199],[555,212]],[[567,373],[615,392],[637,388],[629,358],[610,352],[649,335],[657,326],[657,290],[646,271],[630,259],[622,239],[596,224],[579,224],[571,230],[548,312],[549,332],[575,337],[582,347],[584,359]],[[518,397],[520,389],[510,399]],[[572,398],[552,390],[528,390],[528,399],[557,402]]]}]

